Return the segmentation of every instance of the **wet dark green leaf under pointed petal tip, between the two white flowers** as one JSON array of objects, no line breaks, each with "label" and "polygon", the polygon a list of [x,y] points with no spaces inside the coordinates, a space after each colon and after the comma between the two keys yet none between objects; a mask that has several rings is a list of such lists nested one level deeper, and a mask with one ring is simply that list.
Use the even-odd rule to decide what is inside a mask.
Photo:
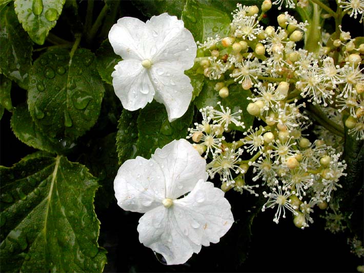
[{"label": "wet dark green leaf under pointed petal tip, between the two white flowers", "polygon": [[162,148],[174,139],[185,138],[193,112],[191,104],[182,117],[170,123],[163,104],[153,101],[141,109],[138,117],[137,155],[149,158],[155,149]]}]

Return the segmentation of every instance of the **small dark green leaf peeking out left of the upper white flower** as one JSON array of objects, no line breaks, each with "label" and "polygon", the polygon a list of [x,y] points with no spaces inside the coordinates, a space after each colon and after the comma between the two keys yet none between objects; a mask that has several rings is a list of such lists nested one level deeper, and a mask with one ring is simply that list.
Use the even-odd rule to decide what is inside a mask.
[{"label": "small dark green leaf peeking out left of the upper white flower", "polygon": [[112,85],[111,73],[114,71],[114,67],[117,63],[121,60],[122,57],[114,53],[108,39],[104,40],[96,51],[96,67],[98,74],[100,74],[101,78],[109,83],[109,85]]}]

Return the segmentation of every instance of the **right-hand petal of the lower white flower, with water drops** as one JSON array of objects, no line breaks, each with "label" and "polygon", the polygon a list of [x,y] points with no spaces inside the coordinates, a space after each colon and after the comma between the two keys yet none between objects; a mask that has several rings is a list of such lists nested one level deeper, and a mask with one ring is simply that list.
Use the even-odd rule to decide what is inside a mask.
[{"label": "right-hand petal of the lower white flower, with water drops", "polygon": [[199,180],[186,197],[174,200],[173,212],[179,226],[189,228],[189,238],[195,244],[217,243],[234,222],[229,201],[224,192],[211,182]]}]

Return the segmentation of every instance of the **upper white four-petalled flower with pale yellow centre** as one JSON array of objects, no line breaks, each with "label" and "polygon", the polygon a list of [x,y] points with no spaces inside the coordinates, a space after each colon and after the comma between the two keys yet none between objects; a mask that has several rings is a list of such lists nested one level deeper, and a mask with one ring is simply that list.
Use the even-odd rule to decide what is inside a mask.
[{"label": "upper white four-petalled flower with pale yellow centre", "polygon": [[187,111],[193,88],[184,71],[193,66],[197,46],[182,20],[167,13],[146,23],[123,17],[112,26],[109,41],[123,58],[112,84],[125,109],[144,108],[154,97],[165,105],[169,121]]}]

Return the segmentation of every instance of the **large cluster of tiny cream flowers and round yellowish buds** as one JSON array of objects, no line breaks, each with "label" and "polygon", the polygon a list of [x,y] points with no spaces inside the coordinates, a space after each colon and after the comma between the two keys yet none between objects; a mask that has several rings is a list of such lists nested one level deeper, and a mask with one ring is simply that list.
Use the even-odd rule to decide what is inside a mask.
[{"label": "large cluster of tiny cream flowers and round yellowish buds", "polygon": [[[300,2],[300,7],[308,5]],[[305,228],[313,221],[313,208],[326,208],[341,187],[340,177],[346,175],[340,159],[343,126],[354,138],[364,139],[364,44],[339,25],[329,38],[315,41],[314,50],[299,48],[305,32],[317,26],[299,23],[288,12],[277,17],[278,26],[264,27],[260,21],[272,4],[282,3],[266,0],[260,13],[256,6],[238,4],[229,36],[197,43],[203,52],[197,58],[200,71],[216,82],[221,102],[229,96],[230,85],[240,85],[241,92],[250,90],[246,111],[256,117],[258,126],[240,128],[242,136],[228,137],[229,122],[238,124],[205,107],[200,110],[203,121],[189,129],[188,138],[210,158],[208,173],[211,178],[220,176],[224,191],[246,189],[256,194],[257,185],[248,185],[245,179],[250,169],[253,181],[268,188],[262,210],[275,207],[277,223],[289,211],[295,225]],[[286,5],[292,8],[294,3]],[[360,5],[356,12],[361,14]],[[224,112],[221,103],[219,107]],[[316,140],[308,137],[313,123]]]}]

